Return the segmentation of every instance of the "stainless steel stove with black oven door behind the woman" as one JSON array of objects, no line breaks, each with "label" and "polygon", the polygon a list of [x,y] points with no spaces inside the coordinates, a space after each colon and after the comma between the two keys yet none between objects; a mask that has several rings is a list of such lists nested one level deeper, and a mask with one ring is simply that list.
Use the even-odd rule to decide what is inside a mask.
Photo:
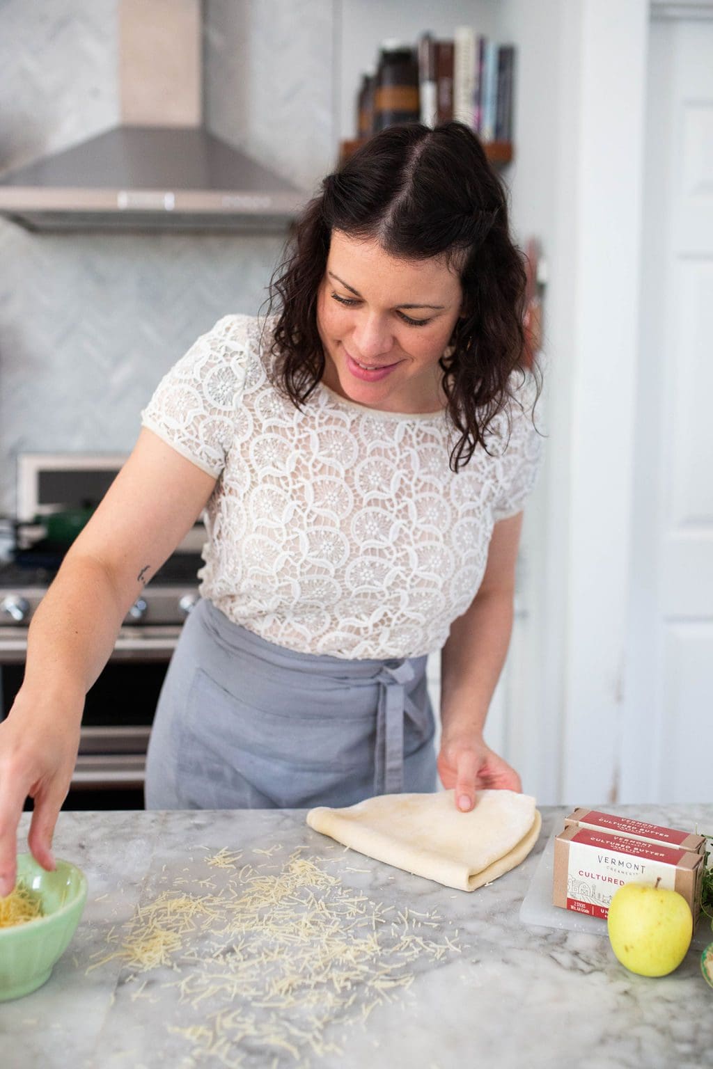
[{"label": "stainless steel stove with black oven door behind the woman", "polygon": [[[43,517],[93,508],[126,458],[26,453],[18,458],[18,516],[11,559],[0,561],[0,719],[25,673],[28,629],[65,548],[47,542]],[[65,808],[141,808],[145,753],[166,669],[198,601],[202,524],[129,608],[111,657],[87,695],[77,766]]]}]

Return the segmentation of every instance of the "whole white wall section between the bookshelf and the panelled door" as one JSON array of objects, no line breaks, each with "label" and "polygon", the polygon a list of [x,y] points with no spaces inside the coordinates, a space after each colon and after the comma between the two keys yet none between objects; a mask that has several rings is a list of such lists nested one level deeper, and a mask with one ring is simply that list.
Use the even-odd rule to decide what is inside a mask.
[{"label": "whole white wall section between the bookshelf and the panelled door", "polygon": [[520,45],[513,218],[549,265],[548,441],[511,716],[541,802],[606,802],[624,709],[648,3],[502,6]]}]

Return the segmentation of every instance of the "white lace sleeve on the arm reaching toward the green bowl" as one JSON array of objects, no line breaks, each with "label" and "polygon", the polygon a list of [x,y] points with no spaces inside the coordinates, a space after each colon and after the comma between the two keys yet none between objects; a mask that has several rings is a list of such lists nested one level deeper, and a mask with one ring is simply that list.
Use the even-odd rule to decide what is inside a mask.
[{"label": "white lace sleeve on the arm reaching toward the green bowl", "polygon": [[216,478],[226,464],[245,384],[247,315],[226,315],[160,381],[141,423]]}]

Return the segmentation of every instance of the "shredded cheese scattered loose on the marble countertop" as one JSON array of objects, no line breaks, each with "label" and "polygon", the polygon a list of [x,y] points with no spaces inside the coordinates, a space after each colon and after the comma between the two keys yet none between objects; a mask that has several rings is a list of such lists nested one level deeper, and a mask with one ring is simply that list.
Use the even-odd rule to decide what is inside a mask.
[{"label": "shredded cheese scattered loose on the marble countertop", "polygon": [[[276,849],[253,853],[272,861]],[[460,952],[458,932],[445,935],[433,911],[375,903],[300,850],[267,870],[239,862],[227,850],[206,857],[222,870],[220,886],[218,872],[174,880],[205,893],[173,886],[141,904],[90,966],[118,959],[130,973],[124,985],[143,974],[133,1001],[160,1004],[161,1016],[180,1006],[168,1028],[190,1044],[193,1064],[269,1067],[288,1057],[307,1066],[340,1054],[328,1026],[363,1024],[408,989],[419,961]]]}]

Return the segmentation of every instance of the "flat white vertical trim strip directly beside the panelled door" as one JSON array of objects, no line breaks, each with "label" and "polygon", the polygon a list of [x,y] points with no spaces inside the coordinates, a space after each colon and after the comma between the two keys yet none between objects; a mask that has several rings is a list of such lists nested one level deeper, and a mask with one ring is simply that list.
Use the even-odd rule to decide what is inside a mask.
[{"label": "flat white vertical trim strip directly beside the panelled door", "polygon": [[646,0],[583,3],[560,780],[563,799],[580,804],[616,801],[618,792],[631,583],[648,17]]}]

